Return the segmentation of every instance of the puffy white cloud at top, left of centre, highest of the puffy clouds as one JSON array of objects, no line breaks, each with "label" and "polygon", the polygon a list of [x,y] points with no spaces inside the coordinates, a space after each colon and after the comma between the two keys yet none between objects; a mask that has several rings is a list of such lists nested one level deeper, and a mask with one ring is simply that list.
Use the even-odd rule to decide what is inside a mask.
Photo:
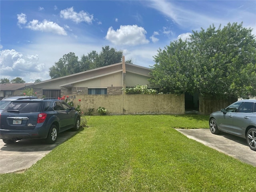
[{"label": "puffy white cloud at top, left of centre, highest of the puffy clouds", "polygon": [[76,23],[80,23],[84,21],[90,24],[92,23],[92,20],[93,20],[93,15],[84,11],[80,11],[79,13],[75,12],[73,7],[61,10],[60,17],[64,19],[70,19]]}]

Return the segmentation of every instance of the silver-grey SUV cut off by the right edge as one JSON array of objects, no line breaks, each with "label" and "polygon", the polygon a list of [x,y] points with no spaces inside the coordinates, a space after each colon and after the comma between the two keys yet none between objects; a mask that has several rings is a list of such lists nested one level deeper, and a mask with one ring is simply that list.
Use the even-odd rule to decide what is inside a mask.
[{"label": "silver-grey SUV cut off by the right edge", "polygon": [[223,131],[245,138],[249,147],[256,151],[256,100],[239,100],[213,112],[209,126],[213,134]]}]

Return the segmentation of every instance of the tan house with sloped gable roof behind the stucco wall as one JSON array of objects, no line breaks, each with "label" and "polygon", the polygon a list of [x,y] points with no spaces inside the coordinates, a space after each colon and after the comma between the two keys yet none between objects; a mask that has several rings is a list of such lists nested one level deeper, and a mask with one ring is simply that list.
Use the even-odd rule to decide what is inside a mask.
[{"label": "tan house with sloped gable roof behind the stucco wall", "polygon": [[37,96],[58,98],[63,95],[118,95],[122,88],[134,87],[137,84],[148,85],[150,68],[122,62],[30,84]]}]

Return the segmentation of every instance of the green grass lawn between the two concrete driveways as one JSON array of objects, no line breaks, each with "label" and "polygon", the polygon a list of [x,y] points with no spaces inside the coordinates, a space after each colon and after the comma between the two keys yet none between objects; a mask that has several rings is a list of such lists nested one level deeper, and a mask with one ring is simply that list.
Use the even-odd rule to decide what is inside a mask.
[{"label": "green grass lawn between the two concrete driveways", "polygon": [[208,116],[90,116],[25,172],[1,174],[0,191],[255,191],[255,167],[174,128],[208,128]]}]

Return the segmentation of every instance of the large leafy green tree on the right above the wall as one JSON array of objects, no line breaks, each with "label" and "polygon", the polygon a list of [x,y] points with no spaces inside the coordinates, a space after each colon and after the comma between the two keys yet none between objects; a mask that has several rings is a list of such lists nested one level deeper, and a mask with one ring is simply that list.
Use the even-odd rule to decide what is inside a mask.
[{"label": "large leafy green tree on the right above the wall", "polygon": [[154,61],[151,82],[166,92],[256,95],[256,38],[242,23],[193,31],[159,49]]}]

